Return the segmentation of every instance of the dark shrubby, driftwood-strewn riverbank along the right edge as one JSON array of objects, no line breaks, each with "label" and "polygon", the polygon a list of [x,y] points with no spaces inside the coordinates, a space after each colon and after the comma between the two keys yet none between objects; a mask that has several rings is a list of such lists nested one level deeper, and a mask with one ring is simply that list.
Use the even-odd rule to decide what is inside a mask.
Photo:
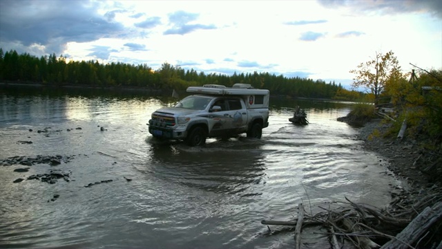
[{"label": "dark shrubby, driftwood-strewn riverbank along the right edge", "polygon": [[[347,118],[338,120],[345,122]],[[381,119],[370,120],[357,137],[364,141],[361,149],[376,152],[379,163],[398,178],[397,185],[390,185],[392,201],[385,210],[365,211],[376,217],[376,225],[369,231],[374,232],[373,237],[385,238],[375,239],[381,248],[442,248],[442,146],[424,136],[386,138],[383,134],[391,125]],[[428,145],[434,146],[427,149]],[[354,206],[358,212],[362,210]]]}]

